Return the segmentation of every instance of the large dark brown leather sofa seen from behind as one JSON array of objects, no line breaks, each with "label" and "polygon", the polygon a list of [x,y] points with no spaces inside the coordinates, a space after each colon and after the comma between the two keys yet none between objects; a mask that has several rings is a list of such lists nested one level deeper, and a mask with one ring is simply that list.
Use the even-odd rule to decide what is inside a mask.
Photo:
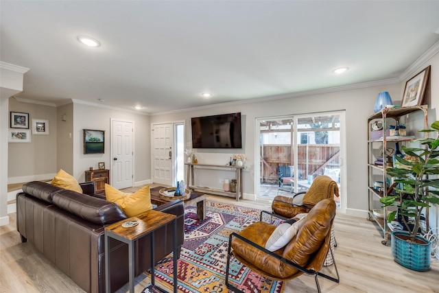
[{"label": "large dark brown leather sofa seen from behind", "polygon": [[[16,196],[16,228],[21,241],[29,241],[86,292],[106,292],[104,227],[127,217],[113,202],[93,194],[93,183],[80,184],[87,194],[34,181]],[[184,241],[185,207],[174,200],[156,207],[177,215],[178,257]],[[173,226],[154,234],[154,259],[173,250]],[[128,283],[128,246],[110,238],[111,289]],[[150,237],[134,244],[135,276],[150,268]]]}]

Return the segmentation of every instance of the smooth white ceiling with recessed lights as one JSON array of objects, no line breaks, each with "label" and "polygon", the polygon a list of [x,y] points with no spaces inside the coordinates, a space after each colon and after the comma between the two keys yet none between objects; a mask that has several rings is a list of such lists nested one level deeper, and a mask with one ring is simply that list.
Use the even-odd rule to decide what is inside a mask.
[{"label": "smooth white ceiling with recessed lights", "polygon": [[439,40],[439,1],[1,0],[0,11],[0,60],[30,69],[19,97],[143,113],[398,80]]}]

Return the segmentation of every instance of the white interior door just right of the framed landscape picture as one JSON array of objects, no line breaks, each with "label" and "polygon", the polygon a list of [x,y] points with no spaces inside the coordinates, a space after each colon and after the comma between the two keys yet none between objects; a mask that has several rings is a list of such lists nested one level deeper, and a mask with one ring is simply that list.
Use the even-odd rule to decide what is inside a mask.
[{"label": "white interior door just right of the framed landscape picture", "polygon": [[111,185],[117,189],[133,186],[133,132],[131,121],[112,120]]}]

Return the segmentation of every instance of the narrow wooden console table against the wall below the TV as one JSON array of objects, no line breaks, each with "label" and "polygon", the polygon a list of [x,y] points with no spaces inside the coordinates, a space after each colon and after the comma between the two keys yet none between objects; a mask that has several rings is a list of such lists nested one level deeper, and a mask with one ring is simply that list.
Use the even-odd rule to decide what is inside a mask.
[{"label": "narrow wooden console table against the wall below the TV", "polygon": [[[185,163],[187,165],[187,173],[186,173],[186,182],[189,184],[187,188],[193,189],[195,191],[203,191],[208,194],[218,194],[220,196],[228,196],[230,198],[236,198],[237,201],[239,201],[239,198],[242,196],[242,170],[244,167],[238,167],[238,166],[228,166],[228,165],[209,165],[209,164],[194,164],[194,163]],[[215,189],[210,187],[201,187],[201,186],[195,186],[195,180],[193,178],[193,169],[194,168],[200,168],[200,169],[230,169],[235,171],[235,178],[237,180],[236,185],[236,192],[230,192],[230,191],[224,191],[222,189]]]}]

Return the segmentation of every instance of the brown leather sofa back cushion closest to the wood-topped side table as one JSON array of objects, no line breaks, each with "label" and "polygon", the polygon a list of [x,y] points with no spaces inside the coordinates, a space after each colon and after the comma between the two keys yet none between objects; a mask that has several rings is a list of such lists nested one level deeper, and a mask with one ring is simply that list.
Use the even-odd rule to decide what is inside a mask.
[{"label": "brown leather sofa back cushion closest to the wood-topped side table", "polygon": [[112,224],[127,216],[114,202],[62,189],[53,194],[53,202],[61,209],[95,224]]}]

